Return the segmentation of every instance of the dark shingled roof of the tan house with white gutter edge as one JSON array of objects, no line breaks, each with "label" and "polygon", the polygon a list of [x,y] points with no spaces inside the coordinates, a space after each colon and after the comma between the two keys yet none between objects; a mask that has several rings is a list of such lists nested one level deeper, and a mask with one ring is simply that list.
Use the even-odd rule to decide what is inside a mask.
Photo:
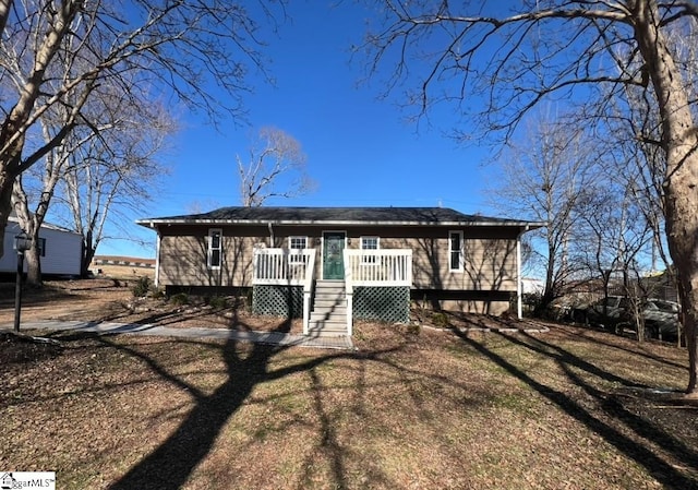
[{"label": "dark shingled roof of the tan house with white gutter edge", "polygon": [[480,225],[530,226],[542,223],[462,214],[447,207],[221,207],[208,213],[139,219],[143,226],[168,224],[288,224],[288,225]]}]

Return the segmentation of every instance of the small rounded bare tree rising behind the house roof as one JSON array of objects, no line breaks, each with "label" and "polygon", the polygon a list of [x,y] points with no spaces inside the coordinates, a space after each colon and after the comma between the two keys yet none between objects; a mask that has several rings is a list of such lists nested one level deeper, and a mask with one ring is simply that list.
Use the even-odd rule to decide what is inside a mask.
[{"label": "small rounded bare tree rising behind the house roof", "polygon": [[250,150],[250,160],[243,162],[240,155],[236,158],[243,206],[261,206],[272,198],[303,195],[315,186],[305,171],[306,156],[301,144],[280,129],[262,128]]}]

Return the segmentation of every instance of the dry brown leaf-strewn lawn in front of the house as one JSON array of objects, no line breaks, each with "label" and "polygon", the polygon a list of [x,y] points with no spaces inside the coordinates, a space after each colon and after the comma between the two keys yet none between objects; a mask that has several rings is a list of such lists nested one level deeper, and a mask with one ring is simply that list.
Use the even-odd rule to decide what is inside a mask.
[{"label": "dry brown leaf-strewn lawn in front of the house", "polygon": [[[26,314],[129,319],[128,289],[96,310],[68,289]],[[648,390],[685,385],[685,350],[549,326],[359,324],[357,351],[3,336],[0,470],[60,489],[698,488],[696,408]]]}]

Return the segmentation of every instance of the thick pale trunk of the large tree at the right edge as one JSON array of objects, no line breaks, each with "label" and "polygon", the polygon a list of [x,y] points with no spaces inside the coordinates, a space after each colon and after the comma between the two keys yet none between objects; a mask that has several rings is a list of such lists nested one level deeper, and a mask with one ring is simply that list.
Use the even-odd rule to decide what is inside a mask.
[{"label": "thick pale trunk of the large tree at the right edge", "polygon": [[635,0],[635,37],[652,81],[662,120],[666,152],[664,180],[666,239],[678,273],[689,371],[686,392],[698,396],[698,135],[666,39],[659,31],[661,15],[654,0]]}]

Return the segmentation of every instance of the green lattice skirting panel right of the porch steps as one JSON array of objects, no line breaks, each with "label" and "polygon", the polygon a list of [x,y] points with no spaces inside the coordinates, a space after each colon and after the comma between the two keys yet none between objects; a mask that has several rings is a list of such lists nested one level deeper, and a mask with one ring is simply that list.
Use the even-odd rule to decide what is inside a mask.
[{"label": "green lattice skirting panel right of the porch steps", "polygon": [[409,286],[360,286],[354,288],[353,318],[383,322],[409,322]]}]

